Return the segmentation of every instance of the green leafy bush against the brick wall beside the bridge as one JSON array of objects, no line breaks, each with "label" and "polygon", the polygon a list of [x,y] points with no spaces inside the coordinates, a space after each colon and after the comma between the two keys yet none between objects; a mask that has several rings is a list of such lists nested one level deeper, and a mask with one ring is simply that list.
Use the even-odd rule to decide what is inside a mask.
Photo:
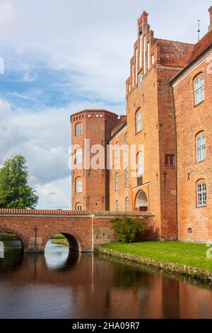
[{"label": "green leafy bush against the brick wall beside the bridge", "polygon": [[139,233],[144,235],[146,232],[146,225],[139,218],[131,218],[130,216],[114,218],[112,225],[119,238],[119,242],[122,243],[135,242]]}]

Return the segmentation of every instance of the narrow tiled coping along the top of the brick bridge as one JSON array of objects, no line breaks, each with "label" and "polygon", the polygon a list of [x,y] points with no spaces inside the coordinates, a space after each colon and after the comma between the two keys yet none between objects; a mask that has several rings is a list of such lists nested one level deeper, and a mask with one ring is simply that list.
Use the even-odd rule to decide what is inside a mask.
[{"label": "narrow tiled coping along the top of the brick bridge", "polygon": [[1,208],[0,215],[95,215],[95,216],[144,216],[153,217],[151,212],[111,212],[106,210],[40,210],[40,209],[7,209]]}]

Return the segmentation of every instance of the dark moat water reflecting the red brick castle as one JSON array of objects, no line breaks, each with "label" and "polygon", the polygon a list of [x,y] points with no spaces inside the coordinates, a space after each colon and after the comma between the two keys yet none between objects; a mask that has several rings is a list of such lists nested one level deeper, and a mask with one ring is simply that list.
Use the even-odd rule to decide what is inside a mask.
[{"label": "dark moat water reflecting the red brick castle", "polygon": [[0,318],[212,318],[212,286],[50,242],[43,255],[5,242]]}]

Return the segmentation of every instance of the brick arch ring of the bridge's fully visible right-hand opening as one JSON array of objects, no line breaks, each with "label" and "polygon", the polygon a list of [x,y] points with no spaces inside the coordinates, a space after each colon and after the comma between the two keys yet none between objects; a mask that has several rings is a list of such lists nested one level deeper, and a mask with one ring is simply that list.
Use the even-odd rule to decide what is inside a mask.
[{"label": "brick arch ring of the bridge's fully visible right-hand opening", "polygon": [[66,237],[66,239],[69,242],[69,249],[72,249],[73,251],[82,252],[83,249],[83,239],[76,233],[70,230],[69,228],[56,228],[54,230],[51,230],[51,232],[48,232],[47,235],[43,238],[42,242],[42,249],[45,250],[45,246],[49,239],[51,239],[52,236],[61,234]]}]

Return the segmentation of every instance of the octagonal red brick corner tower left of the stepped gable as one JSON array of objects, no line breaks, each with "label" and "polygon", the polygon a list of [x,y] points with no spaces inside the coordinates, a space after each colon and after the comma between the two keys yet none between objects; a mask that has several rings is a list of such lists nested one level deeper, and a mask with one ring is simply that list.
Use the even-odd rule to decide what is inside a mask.
[{"label": "octagonal red brick corner tower left of the stepped gable", "polygon": [[90,149],[93,145],[102,145],[106,161],[107,140],[117,125],[118,115],[107,110],[84,110],[71,115],[71,144],[78,145],[75,149],[77,169],[71,171],[73,210],[108,209],[107,168],[89,166],[89,155],[92,159],[99,152],[86,154],[85,159],[85,150],[88,151],[89,145]]}]

